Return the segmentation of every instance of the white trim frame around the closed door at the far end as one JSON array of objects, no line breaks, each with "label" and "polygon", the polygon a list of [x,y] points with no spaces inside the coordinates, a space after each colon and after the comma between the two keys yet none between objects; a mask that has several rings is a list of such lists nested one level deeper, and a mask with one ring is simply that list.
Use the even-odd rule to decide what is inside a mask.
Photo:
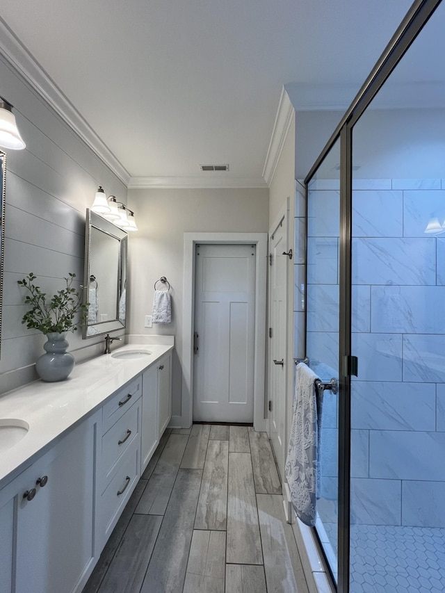
[{"label": "white trim frame around the closed door at the far end", "polygon": [[255,322],[254,322],[254,430],[266,430],[266,301],[267,301],[267,233],[184,233],[184,299],[182,318],[182,397],[181,416],[172,423],[189,428],[193,422],[193,331],[195,327],[195,246],[205,244],[256,245]]}]

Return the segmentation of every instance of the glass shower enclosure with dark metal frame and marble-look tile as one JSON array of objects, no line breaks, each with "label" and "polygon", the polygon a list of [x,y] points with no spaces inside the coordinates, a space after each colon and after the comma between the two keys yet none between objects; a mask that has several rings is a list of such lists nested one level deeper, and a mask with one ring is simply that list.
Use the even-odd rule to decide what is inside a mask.
[{"label": "glass shower enclosure with dark metal frame and marble-look tile", "polygon": [[445,590],[445,3],[417,1],[305,180],[316,533],[338,590]]}]

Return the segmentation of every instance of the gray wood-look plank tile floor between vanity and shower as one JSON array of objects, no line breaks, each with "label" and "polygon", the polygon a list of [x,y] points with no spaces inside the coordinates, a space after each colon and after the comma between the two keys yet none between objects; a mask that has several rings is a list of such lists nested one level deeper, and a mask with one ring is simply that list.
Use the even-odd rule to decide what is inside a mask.
[{"label": "gray wood-look plank tile floor between vanity and shower", "polygon": [[83,593],[308,593],[267,434],[167,429]]}]

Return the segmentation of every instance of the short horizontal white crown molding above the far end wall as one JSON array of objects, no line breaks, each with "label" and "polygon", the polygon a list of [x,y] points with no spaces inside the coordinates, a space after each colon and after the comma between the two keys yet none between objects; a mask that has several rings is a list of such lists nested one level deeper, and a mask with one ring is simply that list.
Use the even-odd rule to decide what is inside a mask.
[{"label": "short horizontal white crown molding above the far end wall", "polygon": [[262,177],[131,177],[129,189],[235,189],[267,188]]}]

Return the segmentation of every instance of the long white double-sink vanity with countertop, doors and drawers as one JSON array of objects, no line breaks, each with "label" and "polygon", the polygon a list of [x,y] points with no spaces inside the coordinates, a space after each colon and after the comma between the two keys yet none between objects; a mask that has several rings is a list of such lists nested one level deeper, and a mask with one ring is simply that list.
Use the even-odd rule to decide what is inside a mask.
[{"label": "long white double-sink vanity with countertop, doors and drawers", "polygon": [[0,593],[86,585],[170,420],[171,352],[155,356],[149,368],[95,359],[69,387],[35,382],[0,398],[2,417],[30,426],[0,459],[0,479],[15,476],[0,489]]}]

